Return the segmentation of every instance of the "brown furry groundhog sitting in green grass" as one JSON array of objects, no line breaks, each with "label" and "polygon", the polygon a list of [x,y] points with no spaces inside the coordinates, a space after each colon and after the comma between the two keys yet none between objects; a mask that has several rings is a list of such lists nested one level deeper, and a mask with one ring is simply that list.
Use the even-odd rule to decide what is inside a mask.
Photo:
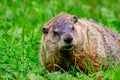
[{"label": "brown furry groundhog sitting in green grass", "polygon": [[61,13],[43,27],[41,64],[48,72],[69,70],[99,71],[120,61],[120,35],[93,20]]}]

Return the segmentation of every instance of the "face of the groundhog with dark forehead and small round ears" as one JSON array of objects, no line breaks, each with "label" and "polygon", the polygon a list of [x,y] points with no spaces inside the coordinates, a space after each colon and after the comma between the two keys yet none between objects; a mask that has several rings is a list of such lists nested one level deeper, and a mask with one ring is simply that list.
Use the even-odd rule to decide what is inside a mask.
[{"label": "face of the groundhog with dark forehead and small round ears", "polygon": [[46,46],[53,46],[59,50],[71,50],[77,44],[77,17],[72,16],[70,19],[66,17],[57,18],[52,24],[43,27]]}]

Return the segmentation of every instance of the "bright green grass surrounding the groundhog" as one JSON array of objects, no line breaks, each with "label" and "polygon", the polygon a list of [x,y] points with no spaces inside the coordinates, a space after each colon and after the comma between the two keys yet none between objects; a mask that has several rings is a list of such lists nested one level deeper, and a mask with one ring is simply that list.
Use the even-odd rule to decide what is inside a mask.
[{"label": "bright green grass surrounding the groundhog", "polygon": [[0,0],[0,80],[120,80],[120,68],[96,74],[46,74],[39,61],[42,27],[66,12],[94,19],[120,33],[120,0]]}]

